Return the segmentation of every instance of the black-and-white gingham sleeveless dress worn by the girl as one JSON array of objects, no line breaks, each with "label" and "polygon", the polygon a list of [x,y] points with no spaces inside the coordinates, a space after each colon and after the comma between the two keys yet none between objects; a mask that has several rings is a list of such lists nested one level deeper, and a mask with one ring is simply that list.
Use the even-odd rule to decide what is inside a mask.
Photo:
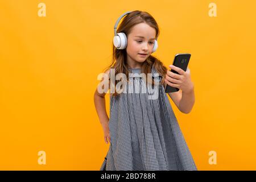
[{"label": "black-and-white gingham sleeveless dress worn by the girl", "polygon": [[[110,96],[110,146],[101,171],[197,170],[181,133],[164,86],[152,93],[129,93],[129,88],[144,89],[140,68],[130,68],[133,85],[117,97]],[[154,67],[151,73],[157,73]],[[161,76],[154,76],[156,81]]]}]

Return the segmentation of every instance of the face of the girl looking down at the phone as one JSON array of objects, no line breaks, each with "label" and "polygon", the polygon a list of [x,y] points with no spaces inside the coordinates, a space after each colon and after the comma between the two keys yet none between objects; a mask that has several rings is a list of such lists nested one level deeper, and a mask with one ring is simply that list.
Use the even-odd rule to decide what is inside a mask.
[{"label": "face of the girl looking down at the phone", "polygon": [[150,56],[155,43],[155,34],[155,28],[146,23],[139,23],[131,29],[127,36],[126,47],[127,63],[130,67],[140,67]]}]

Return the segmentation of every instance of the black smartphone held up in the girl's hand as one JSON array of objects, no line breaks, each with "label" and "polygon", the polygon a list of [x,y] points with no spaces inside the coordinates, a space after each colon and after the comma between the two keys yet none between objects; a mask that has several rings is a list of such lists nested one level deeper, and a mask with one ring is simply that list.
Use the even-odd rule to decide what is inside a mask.
[{"label": "black smartphone held up in the girl's hand", "polygon": [[[179,67],[183,69],[184,71],[187,71],[188,62],[191,57],[190,53],[178,53],[174,56],[174,63],[172,65],[175,65],[175,67]],[[171,72],[179,74],[178,72],[171,69]],[[166,88],[164,89],[164,92],[170,93],[170,92],[177,92],[180,89],[172,87],[168,84],[166,84]]]}]

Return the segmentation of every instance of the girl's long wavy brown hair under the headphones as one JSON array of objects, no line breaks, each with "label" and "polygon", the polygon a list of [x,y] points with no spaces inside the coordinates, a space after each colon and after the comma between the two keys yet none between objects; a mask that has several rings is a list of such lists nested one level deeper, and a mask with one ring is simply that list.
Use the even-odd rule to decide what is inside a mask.
[{"label": "girl's long wavy brown hair under the headphones", "polygon": [[[126,15],[119,27],[117,28],[118,32],[125,33],[126,37],[130,34],[131,28],[133,28],[136,24],[139,23],[147,23],[148,26],[151,26],[152,28],[155,28],[156,30],[156,39],[159,36],[159,27],[156,23],[155,19],[146,11],[132,11],[128,15]],[[126,60],[126,49],[117,49],[113,44],[113,57],[112,57],[112,64],[109,65],[106,70],[113,68],[115,69],[115,75],[118,73],[125,73],[127,77],[127,81],[129,81],[129,70]],[[151,68],[154,67],[155,70],[159,73],[160,76],[164,77],[166,75],[167,68],[163,65],[163,63],[156,58],[155,56],[148,56],[147,59],[143,62],[141,73],[151,73]],[[154,84],[154,80],[148,80],[152,84]],[[117,84],[117,81],[115,80],[115,85]],[[160,82],[160,84],[164,84],[164,79]],[[118,93],[114,92],[113,96],[117,96]]]}]

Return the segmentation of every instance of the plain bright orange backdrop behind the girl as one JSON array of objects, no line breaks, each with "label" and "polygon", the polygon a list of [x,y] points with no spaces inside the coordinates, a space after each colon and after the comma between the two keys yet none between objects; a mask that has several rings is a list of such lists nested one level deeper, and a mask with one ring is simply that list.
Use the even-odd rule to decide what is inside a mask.
[{"label": "plain bright orange backdrop behind the girl", "polygon": [[[40,2],[46,17],[38,16]],[[217,17],[208,15],[211,2]],[[142,10],[160,27],[153,55],[165,65],[176,53],[192,55],[195,105],[183,114],[170,101],[197,168],[255,170],[255,7],[254,0],[1,0],[0,169],[100,169],[109,144],[93,103],[97,76],[110,64],[117,18]]]}]

